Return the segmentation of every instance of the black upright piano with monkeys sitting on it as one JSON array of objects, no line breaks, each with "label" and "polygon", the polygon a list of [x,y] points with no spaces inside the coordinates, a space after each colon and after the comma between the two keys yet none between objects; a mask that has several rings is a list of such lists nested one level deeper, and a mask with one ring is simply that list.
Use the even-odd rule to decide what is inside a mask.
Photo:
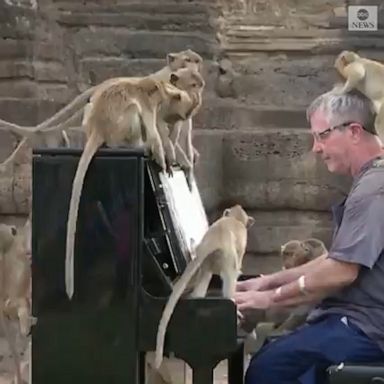
[{"label": "black upright piano with monkeys sitting on it", "polygon": [[[185,234],[201,236],[205,213],[177,217],[180,204],[184,213],[199,205],[196,189],[195,195],[174,196],[174,188],[187,188],[182,171],[176,169],[170,180],[141,151],[101,148],[83,186],[69,300],[66,223],[80,155],[80,149],[33,152],[32,312],[38,321],[32,329],[32,382],[141,384],[145,352],[155,350],[172,281],[188,262]],[[195,219],[202,225],[195,232],[184,228]],[[213,383],[213,369],[229,359],[229,382],[241,384],[240,344],[234,303],[213,294],[179,302],[165,353],[189,364],[194,384]]]}]

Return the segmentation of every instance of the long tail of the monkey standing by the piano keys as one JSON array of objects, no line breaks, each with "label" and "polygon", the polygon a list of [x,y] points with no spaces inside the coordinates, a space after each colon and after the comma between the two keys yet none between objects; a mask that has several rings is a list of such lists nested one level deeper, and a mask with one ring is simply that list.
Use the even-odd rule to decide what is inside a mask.
[{"label": "long tail of the monkey standing by the piano keys", "polygon": [[155,368],[159,369],[161,363],[163,361],[163,352],[164,352],[164,339],[165,332],[173,314],[173,311],[176,307],[177,302],[179,301],[182,293],[184,292],[187,284],[196,273],[198,268],[201,266],[207,254],[197,256],[188,263],[184,273],[181,275],[180,279],[177,281],[175,286],[173,287],[173,291],[171,296],[169,297],[167,304],[164,308],[163,315],[161,317],[159,328],[157,330],[157,338],[156,338],[156,356],[155,356]]}]

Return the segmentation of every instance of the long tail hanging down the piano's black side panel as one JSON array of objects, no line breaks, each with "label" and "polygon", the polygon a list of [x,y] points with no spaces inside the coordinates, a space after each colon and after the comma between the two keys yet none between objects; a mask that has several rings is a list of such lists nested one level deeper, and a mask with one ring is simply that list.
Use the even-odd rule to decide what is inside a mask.
[{"label": "long tail hanging down the piano's black side panel", "polygon": [[91,134],[80,157],[76,175],[72,184],[72,195],[69,204],[67,221],[67,242],[65,253],[65,290],[70,299],[72,298],[74,292],[74,247],[81,191],[88,166],[102,143],[103,140],[96,133]]}]

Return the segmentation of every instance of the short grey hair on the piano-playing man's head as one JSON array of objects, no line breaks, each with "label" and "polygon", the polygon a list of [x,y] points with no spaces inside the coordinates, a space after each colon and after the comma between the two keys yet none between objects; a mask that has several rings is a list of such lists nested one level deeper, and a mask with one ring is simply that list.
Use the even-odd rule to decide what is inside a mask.
[{"label": "short grey hair on the piano-playing man's head", "polygon": [[323,112],[331,125],[355,121],[360,123],[366,131],[377,134],[374,125],[373,104],[357,90],[342,95],[335,95],[332,91],[323,93],[313,100],[307,108],[308,121],[316,111]]}]

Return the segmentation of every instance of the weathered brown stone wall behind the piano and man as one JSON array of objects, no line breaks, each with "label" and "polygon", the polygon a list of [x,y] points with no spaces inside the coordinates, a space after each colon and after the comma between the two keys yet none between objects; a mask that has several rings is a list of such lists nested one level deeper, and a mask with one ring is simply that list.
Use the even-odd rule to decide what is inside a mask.
[{"label": "weathered brown stone wall behind the piano and man", "polygon": [[[329,206],[349,180],[310,153],[309,101],[336,80],[342,49],[383,59],[383,32],[347,31],[347,1],[0,0],[0,118],[33,125],[89,85],[146,74],[191,48],[206,62],[194,143],[213,219],[232,202],[256,219],[246,272],[278,267],[291,238],[330,239]],[[348,1],[359,4],[363,1]],[[367,4],[383,5],[370,0]],[[11,137],[0,137],[0,157]],[[0,212],[23,215],[29,156],[1,177]]]}]

